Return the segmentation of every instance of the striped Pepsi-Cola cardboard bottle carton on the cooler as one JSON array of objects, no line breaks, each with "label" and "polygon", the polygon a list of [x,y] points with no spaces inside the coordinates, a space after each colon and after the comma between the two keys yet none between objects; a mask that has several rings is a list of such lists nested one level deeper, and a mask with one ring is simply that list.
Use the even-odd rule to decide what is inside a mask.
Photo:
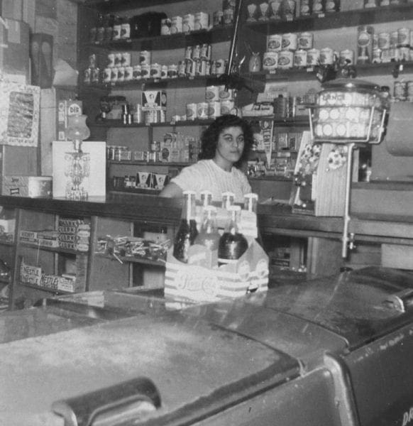
[{"label": "striped Pepsi-Cola cardboard bottle carton on the cooler", "polygon": [[[207,256],[204,246],[191,246],[197,258]],[[203,253],[204,252],[204,253]],[[182,263],[167,253],[165,297],[192,302],[215,302],[225,297],[242,297],[249,292],[268,290],[268,256],[253,239],[236,263],[219,268]]]}]

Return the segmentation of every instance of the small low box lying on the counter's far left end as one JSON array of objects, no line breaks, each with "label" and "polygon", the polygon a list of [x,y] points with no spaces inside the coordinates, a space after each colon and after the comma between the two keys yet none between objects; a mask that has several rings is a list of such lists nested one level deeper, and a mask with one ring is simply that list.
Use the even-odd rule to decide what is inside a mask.
[{"label": "small low box lying on the counter's far left end", "polygon": [[1,176],[1,195],[14,197],[50,197],[52,178],[50,176]]}]

